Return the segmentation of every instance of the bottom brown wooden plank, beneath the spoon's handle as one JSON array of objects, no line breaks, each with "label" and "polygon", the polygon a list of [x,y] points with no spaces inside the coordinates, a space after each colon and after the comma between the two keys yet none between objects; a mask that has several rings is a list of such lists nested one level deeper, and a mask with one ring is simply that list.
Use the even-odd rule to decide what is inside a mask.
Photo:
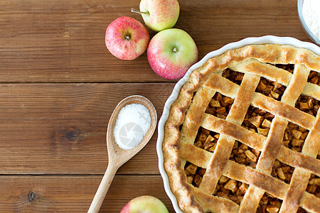
[{"label": "bottom brown wooden plank, beneath the spoon's handle", "polygon": [[[101,179],[101,175],[0,176],[1,212],[87,212]],[[116,176],[100,212],[120,212],[129,200],[142,195],[158,197],[174,212],[160,175]]]}]

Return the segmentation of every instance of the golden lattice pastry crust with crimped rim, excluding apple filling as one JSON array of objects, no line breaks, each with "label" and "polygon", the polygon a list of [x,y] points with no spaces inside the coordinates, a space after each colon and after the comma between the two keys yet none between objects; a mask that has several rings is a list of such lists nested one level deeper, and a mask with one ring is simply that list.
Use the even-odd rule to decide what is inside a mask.
[{"label": "golden lattice pastry crust with crimped rim, excluding apple filling", "polygon": [[[293,64],[293,72],[275,66],[280,64]],[[244,74],[240,84],[223,77],[227,68]],[[265,192],[281,200],[281,207],[270,207],[265,212],[320,212],[320,198],[306,191],[310,176],[320,176],[320,113],[312,115],[295,107],[300,95],[320,101],[319,85],[308,82],[311,70],[320,72],[320,56],[310,50],[264,44],[228,50],[191,73],[171,106],[163,143],[164,168],[184,212],[256,212]],[[257,92],[262,77],[286,87],[282,97]],[[205,113],[218,93],[234,100],[223,118]],[[242,125],[249,107],[274,115],[272,121],[266,121],[267,133],[250,131]],[[301,152],[284,146],[288,123],[309,131]],[[218,133],[213,151],[195,146],[199,128]],[[235,141],[260,153],[254,168],[229,160]],[[276,160],[294,169],[289,183],[271,175]],[[192,178],[188,181],[186,163],[205,169],[196,186]],[[279,177],[283,176],[282,171],[278,172]],[[214,194],[221,177],[233,180],[230,184],[247,185],[239,204],[228,196]],[[319,184],[319,178],[314,180]]]}]

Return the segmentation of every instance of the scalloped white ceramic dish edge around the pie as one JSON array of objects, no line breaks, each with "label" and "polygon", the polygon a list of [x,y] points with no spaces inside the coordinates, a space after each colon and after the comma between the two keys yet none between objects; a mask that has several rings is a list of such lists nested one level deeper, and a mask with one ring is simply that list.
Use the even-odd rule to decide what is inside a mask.
[{"label": "scalloped white ceramic dish edge around the pie", "polygon": [[297,48],[306,48],[314,53],[320,55],[320,47],[309,42],[303,42],[301,40],[297,40],[296,38],[291,37],[277,37],[273,35],[266,35],[258,38],[245,38],[243,40],[240,40],[235,43],[228,43],[227,45],[223,46],[222,48],[218,50],[214,50],[210,53],[208,53],[205,57],[203,57],[199,62],[194,64],[190,67],[188,72],[186,72],[186,75],[181,78],[176,83],[176,86],[174,87],[174,90],[172,91],[170,97],[166,100],[166,103],[164,104],[164,111],[162,113],[162,116],[159,120],[158,124],[158,139],[156,141],[156,153],[158,154],[159,158],[159,170],[162,176],[162,179],[164,180],[164,189],[166,190],[166,194],[169,196],[173,206],[174,210],[176,212],[182,212],[181,209],[178,207],[178,202],[176,200],[176,197],[174,196],[174,193],[171,191],[171,188],[169,186],[169,179],[166,175],[166,171],[164,170],[164,155],[162,152],[162,142],[164,141],[164,124],[166,123],[166,120],[169,117],[169,111],[171,104],[176,101],[176,98],[178,97],[178,93],[180,92],[181,87],[183,84],[185,84],[191,75],[191,72],[193,70],[196,70],[196,68],[201,67],[204,62],[206,62],[209,58],[213,58],[216,55],[220,55],[222,53],[225,53],[225,51],[235,49],[235,48],[241,48],[245,45],[251,45],[251,44],[263,44],[263,43],[277,43],[282,45],[292,45]]}]

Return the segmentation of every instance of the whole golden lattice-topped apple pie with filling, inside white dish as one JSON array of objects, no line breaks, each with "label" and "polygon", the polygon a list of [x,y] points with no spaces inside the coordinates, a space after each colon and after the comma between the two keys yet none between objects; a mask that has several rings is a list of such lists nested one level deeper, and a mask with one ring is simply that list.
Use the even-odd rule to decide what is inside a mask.
[{"label": "whole golden lattice-topped apple pie with filling, inside white dish", "polygon": [[320,212],[320,56],[247,45],[194,70],[164,126],[183,212]]}]

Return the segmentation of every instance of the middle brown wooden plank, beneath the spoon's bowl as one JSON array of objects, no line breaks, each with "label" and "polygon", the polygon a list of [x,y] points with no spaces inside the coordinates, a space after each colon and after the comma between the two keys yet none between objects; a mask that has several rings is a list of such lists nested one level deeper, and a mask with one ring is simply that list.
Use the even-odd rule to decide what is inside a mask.
[{"label": "middle brown wooden plank, beneath the spoon's bowl", "polygon": [[[0,84],[0,174],[104,174],[114,107],[140,94],[158,119],[174,83]],[[159,174],[157,131],[119,174]]]}]

